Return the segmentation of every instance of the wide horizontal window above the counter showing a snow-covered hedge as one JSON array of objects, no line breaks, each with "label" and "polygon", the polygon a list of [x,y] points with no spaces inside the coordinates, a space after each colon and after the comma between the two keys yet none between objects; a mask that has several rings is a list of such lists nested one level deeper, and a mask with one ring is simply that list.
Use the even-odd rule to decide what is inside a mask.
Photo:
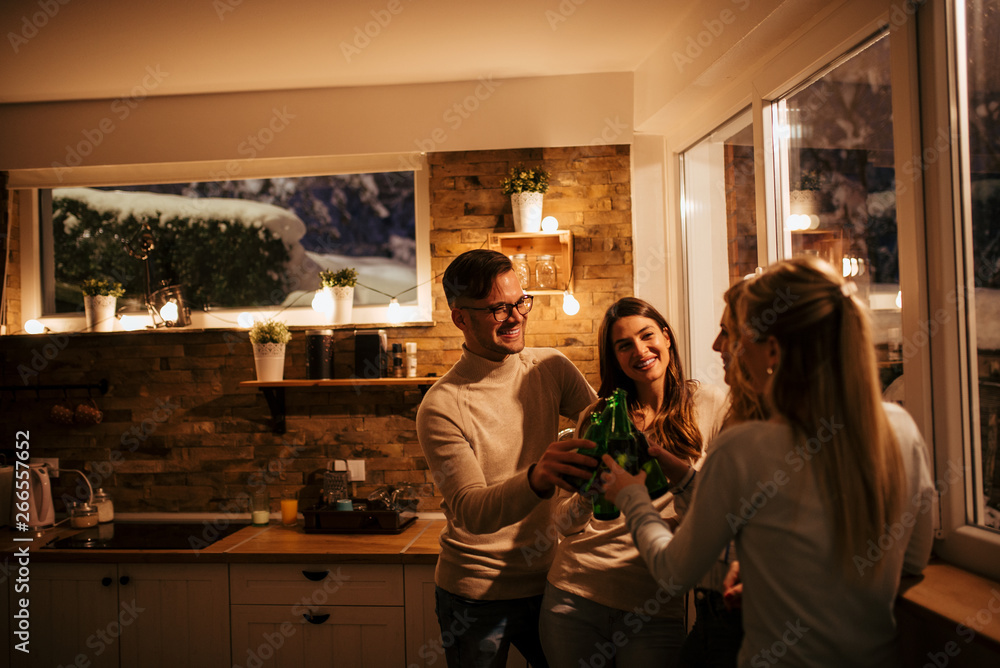
[{"label": "wide horizontal window above the counter showing a snow-covered hedge", "polygon": [[107,174],[81,174],[22,190],[22,219],[36,221],[22,236],[37,239],[24,243],[37,248],[25,254],[25,319],[82,330],[83,282],[103,278],[125,287],[118,308],[131,327],[123,320],[116,330],[151,326],[146,297],[165,286],[179,286],[193,327],[236,327],[243,313],[319,325],[329,317],[312,308],[320,272],[354,268],[353,322],[428,322],[426,171],[398,162],[294,176],[255,166],[253,178],[227,181],[198,180],[214,173],[198,165],[183,170],[193,177],[185,180],[120,170],[110,183]]}]

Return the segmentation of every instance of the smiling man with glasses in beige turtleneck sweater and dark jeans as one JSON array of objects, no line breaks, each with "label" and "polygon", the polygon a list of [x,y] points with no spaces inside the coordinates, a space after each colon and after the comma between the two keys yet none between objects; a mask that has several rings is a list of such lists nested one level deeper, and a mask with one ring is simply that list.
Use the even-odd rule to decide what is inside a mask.
[{"label": "smiling man with glasses in beige turtleneck sweater and dark jeans", "polygon": [[476,249],[444,273],[462,357],[417,411],[420,446],[444,498],[447,525],[435,572],[448,665],[504,666],[511,643],[547,666],[538,612],[558,531],[561,476],[589,477],[589,444],[557,441],[559,416],[576,420],[597,399],[583,374],[550,348],[525,348],[532,297],[510,260]]}]

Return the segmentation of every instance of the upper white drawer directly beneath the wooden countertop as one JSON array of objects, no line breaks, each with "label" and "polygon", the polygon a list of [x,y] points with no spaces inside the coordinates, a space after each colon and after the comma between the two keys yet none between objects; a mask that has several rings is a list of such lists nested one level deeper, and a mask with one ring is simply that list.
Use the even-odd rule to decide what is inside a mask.
[{"label": "upper white drawer directly beneath the wooden countertop", "polygon": [[403,605],[396,564],[230,564],[234,604]]}]

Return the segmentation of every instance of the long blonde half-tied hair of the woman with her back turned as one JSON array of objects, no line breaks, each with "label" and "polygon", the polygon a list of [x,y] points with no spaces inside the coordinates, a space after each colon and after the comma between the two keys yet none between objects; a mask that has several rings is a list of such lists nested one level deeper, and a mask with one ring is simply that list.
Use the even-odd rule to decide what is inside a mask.
[{"label": "long blonde half-tied hair of the woman with her back turned", "polygon": [[814,470],[847,571],[867,541],[877,541],[898,518],[905,493],[902,455],[882,407],[868,311],[854,291],[826,262],[802,257],[750,279],[739,300],[744,331],[755,341],[773,336],[778,342],[768,392],[772,410],[801,441],[821,443]]}]

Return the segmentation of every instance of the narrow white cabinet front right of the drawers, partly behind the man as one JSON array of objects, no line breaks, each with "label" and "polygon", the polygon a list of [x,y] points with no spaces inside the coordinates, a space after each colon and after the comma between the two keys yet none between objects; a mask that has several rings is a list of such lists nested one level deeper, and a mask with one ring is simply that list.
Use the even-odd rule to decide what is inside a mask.
[{"label": "narrow white cabinet front right of the drawers, partly behind the man", "polygon": [[[441,626],[434,612],[434,566],[411,565],[405,569],[406,665],[443,666]],[[507,668],[525,668],[528,662],[511,647]]]}]

